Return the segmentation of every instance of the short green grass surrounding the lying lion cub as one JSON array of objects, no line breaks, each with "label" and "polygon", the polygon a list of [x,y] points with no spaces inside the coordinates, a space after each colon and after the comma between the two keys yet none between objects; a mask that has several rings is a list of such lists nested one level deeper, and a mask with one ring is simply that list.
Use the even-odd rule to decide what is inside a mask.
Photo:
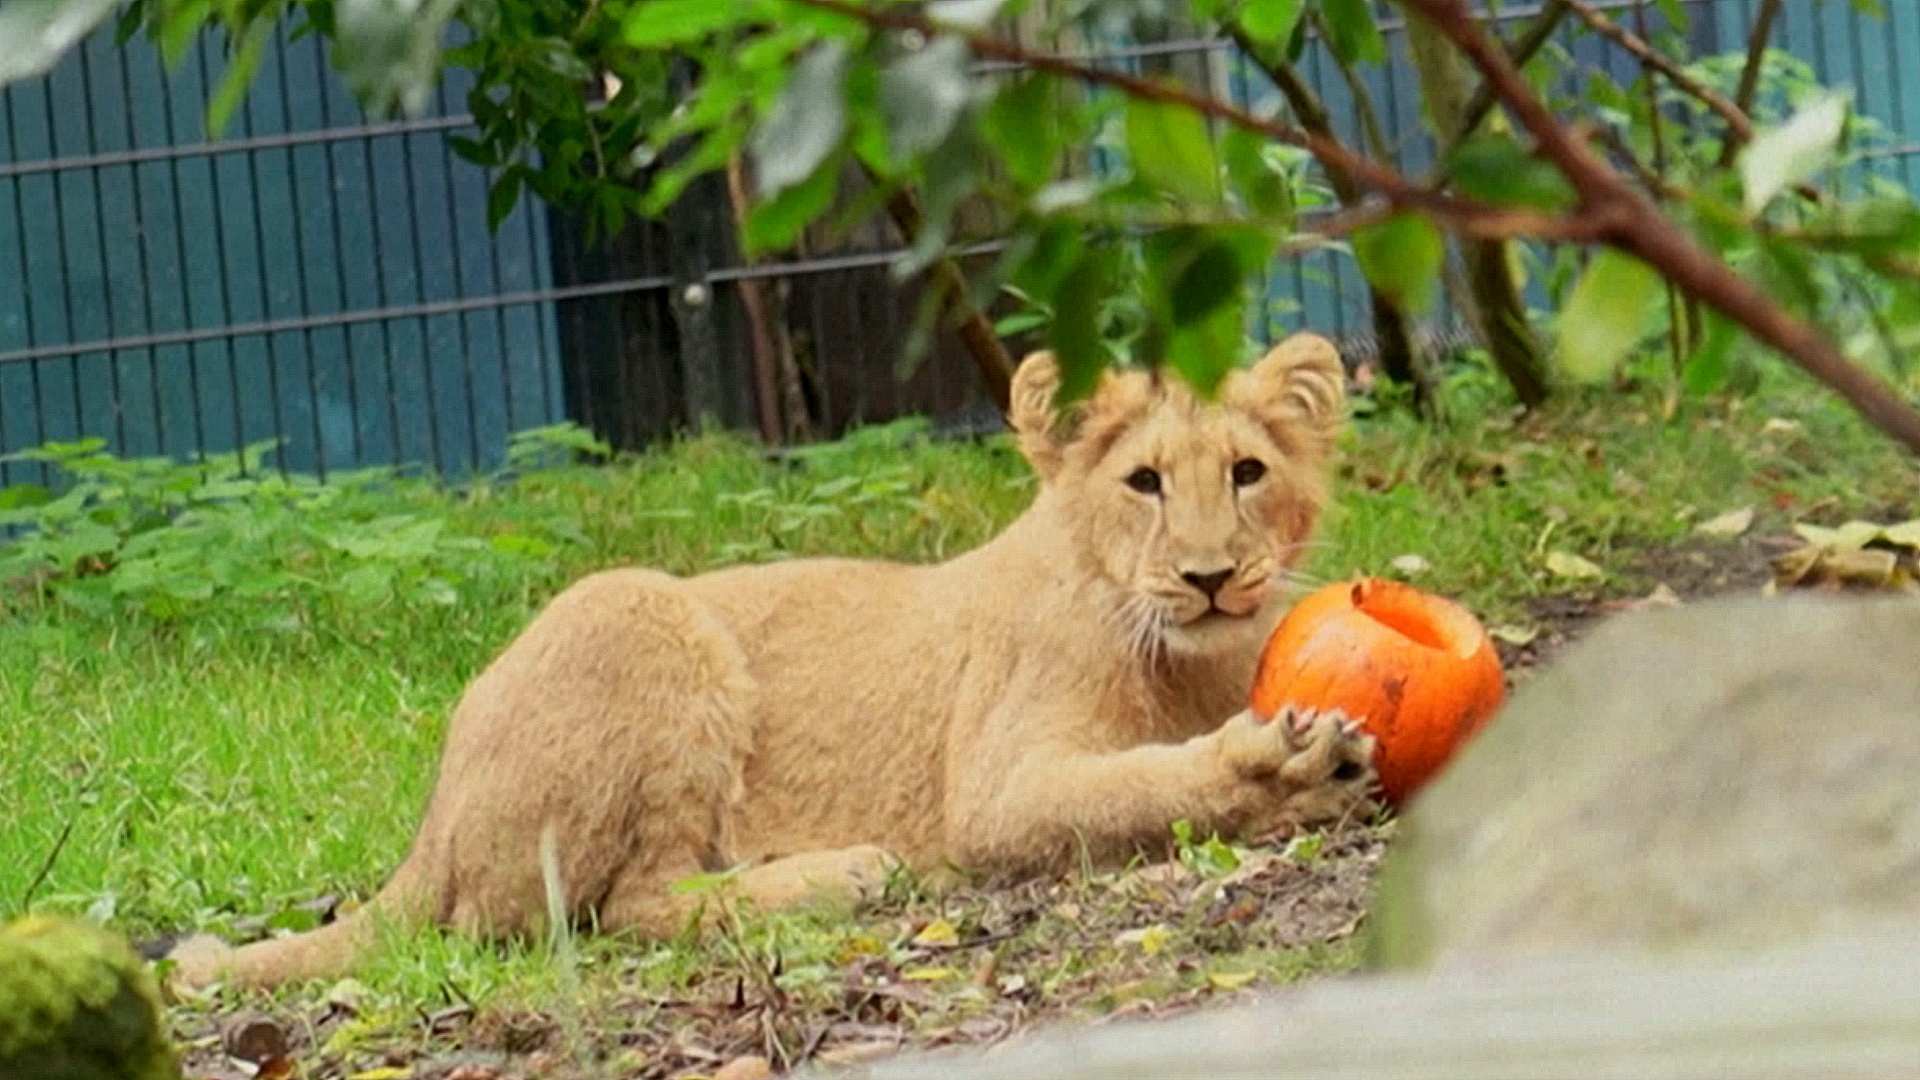
[{"label": "short green grass surrounding the lying lion cub", "polygon": [[[1356,425],[1308,577],[1392,575],[1392,559],[1413,553],[1430,565],[1419,584],[1513,621],[1528,598],[1565,586],[1544,571],[1551,550],[1630,590],[1644,584],[1630,573],[1638,552],[1738,505],[1759,505],[1766,528],[1916,509],[1912,463],[1811,392],[1693,405],[1672,421],[1634,394],[1572,398],[1523,425],[1455,405],[1461,419],[1444,429]],[[232,932],[315,896],[365,896],[411,838],[451,701],[568,580],[624,563],[695,573],[810,553],[941,559],[991,536],[1031,492],[1006,440],[933,442],[895,427],[768,461],[707,436],[611,467],[396,496],[478,536],[545,521],[570,538],[451,607],[313,611],[263,628],[244,605],[175,623],[15,605],[0,621],[0,917],[33,907],[88,911],[136,936]],[[885,919],[927,903],[943,901],[902,901]],[[870,932],[804,915],[758,920],[741,942],[783,942],[789,972],[837,972],[849,940]],[[741,942],[584,944],[591,978],[576,1001],[591,1015],[634,986],[668,994],[716,965],[753,970]],[[1340,949],[1236,949],[1192,945],[1183,955],[1208,957],[1200,967],[1148,965],[1142,992],[1190,990],[1221,957],[1267,982],[1346,963]],[[1102,955],[1066,949],[1060,978],[1114,963]],[[417,1009],[453,999],[499,1020],[516,1003],[551,1003],[557,978],[541,945],[424,934],[369,969],[380,1005],[357,1022],[369,1038],[399,1038]],[[603,1020],[589,1036],[607,1036]],[[933,1009],[916,1022],[947,1020]]]}]

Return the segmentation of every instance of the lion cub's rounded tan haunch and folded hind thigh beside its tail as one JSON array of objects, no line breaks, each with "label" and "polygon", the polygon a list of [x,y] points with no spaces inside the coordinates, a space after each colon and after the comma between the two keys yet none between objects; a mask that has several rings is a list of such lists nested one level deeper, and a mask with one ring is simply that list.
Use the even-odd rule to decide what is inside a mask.
[{"label": "lion cub's rounded tan haunch and folded hind thigh beside its tail", "polygon": [[724,867],[753,696],[733,634],[668,575],[599,573],[555,598],[455,711],[419,846],[451,855],[442,919],[545,924],[547,842],[570,915],[603,924]]}]

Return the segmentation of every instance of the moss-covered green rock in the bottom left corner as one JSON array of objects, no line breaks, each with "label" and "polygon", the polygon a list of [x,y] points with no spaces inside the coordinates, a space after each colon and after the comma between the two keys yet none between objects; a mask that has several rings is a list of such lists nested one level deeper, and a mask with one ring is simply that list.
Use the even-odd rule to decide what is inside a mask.
[{"label": "moss-covered green rock in the bottom left corner", "polygon": [[0,928],[0,1076],[179,1080],[159,994],[127,942],[71,919]]}]

